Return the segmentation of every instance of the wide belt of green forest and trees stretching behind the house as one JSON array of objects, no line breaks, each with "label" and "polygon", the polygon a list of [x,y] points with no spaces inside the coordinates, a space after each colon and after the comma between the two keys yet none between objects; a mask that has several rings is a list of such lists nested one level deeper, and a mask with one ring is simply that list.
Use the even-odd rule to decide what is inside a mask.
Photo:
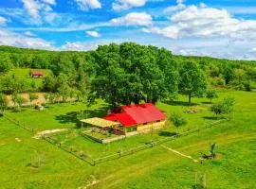
[{"label": "wide belt of green forest and trees stretching behind the house", "polygon": [[[52,74],[35,89],[15,74],[5,75],[12,68],[49,69]],[[178,94],[187,94],[191,102],[214,87],[251,91],[256,86],[255,61],[174,56],[165,48],[137,43],[110,43],[88,52],[0,46],[0,73],[3,94],[42,91],[86,101],[101,97],[113,107]]]}]

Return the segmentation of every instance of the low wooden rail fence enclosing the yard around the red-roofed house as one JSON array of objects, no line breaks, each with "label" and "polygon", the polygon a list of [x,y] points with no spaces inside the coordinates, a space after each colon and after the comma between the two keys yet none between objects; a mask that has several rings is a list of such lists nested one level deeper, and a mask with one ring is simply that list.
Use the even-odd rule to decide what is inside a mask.
[{"label": "low wooden rail fence enclosing the yard around the red-roofed house", "polygon": [[[29,131],[31,133],[34,133],[34,129],[27,128],[26,126],[21,124],[18,120],[9,117],[9,115],[5,114],[5,117],[10,122],[14,123],[15,125],[23,128],[23,129],[26,129],[27,131]],[[46,142],[48,142],[49,144],[53,145],[53,146],[58,146],[59,148],[63,149],[65,152],[73,155],[74,157],[82,160],[83,162],[86,162],[86,163],[89,163],[89,164],[95,166],[96,164],[99,164],[99,163],[104,163],[104,162],[109,162],[109,161],[112,161],[112,160],[116,160],[116,159],[119,159],[119,158],[124,157],[124,156],[132,155],[134,153],[137,153],[138,151],[141,151],[141,150],[144,150],[144,149],[147,149],[147,148],[151,148],[151,147],[154,147],[154,146],[159,146],[163,143],[174,141],[177,137],[187,136],[189,134],[201,131],[203,129],[212,128],[216,125],[219,125],[220,123],[222,123],[224,121],[228,121],[228,119],[218,120],[218,121],[212,122],[208,125],[205,125],[203,127],[196,128],[196,129],[190,129],[188,131],[178,133],[174,136],[170,136],[170,137],[167,137],[167,138],[164,138],[164,139],[159,139],[159,140],[155,140],[155,141],[152,140],[151,142],[146,143],[145,145],[131,147],[127,150],[119,150],[116,153],[106,155],[106,156],[102,156],[100,158],[92,158],[90,155],[86,154],[85,152],[77,150],[76,147],[74,147],[74,146],[66,146],[66,145],[62,144],[57,139],[53,138],[54,136],[56,136],[56,134],[43,135],[42,139],[45,140]]]}]

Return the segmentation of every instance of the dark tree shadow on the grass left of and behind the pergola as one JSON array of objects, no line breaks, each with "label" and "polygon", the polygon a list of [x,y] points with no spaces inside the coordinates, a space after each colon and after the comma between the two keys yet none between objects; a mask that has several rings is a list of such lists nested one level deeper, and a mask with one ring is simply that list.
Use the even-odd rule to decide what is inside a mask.
[{"label": "dark tree shadow on the grass left of and behind the pergola", "polygon": [[[109,109],[108,106],[101,107],[97,110],[84,110],[84,119],[86,118],[91,118],[91,117],[102,117],[107,114],[107,110]],[[55,119],[58,120],[61,124],[75,124],[75,128],[80,128],[81,127],[81,122],[78,119],[80,112],[67,112],[62,115],[56,115]]]}]

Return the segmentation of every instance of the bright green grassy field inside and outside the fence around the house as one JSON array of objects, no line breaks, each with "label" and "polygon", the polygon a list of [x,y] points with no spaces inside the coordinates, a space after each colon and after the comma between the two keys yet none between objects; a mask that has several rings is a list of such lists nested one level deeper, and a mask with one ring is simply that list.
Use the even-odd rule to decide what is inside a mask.
[{"label": "bright green grassy field inside and outside the fence around the house", "polygon": [[[220,99],[227,96],[236,100],[231,120],[212,129],[206,129],[192,135],[177,138],[163,146],[172,147],[194,159],[200,152],[208,152],[210,143],[216,143],[219,160],[193,163],[163,146],[155,146],[137,152],[119,160],[91,166],[82,162],[61,148],[52,146],[43,140],[31,138],[33,134],[0,118],[0,183],[2,188],[84,188],[92,180],[99,183],[88,188],[192,188],[194,177],[206,174],[208,188],[255,188],[255,143],[256,143],[256,94],[247,92],[222,91]],[[157,106],[166,111],[183,112],[191,109],[181,96],[175,103],[162,102]],[[207,99],[192,99],[194,114],[182,113],[188,125],[180,128],[200,128],[215,121],[209,111]],[[89,116],[101,116],[108,106],[99,101],[88,112]],[[45,129],[71,129],[70,132],[57,135],[58,140],[68,146],[84,150],[92,157],[101,157],[145,144],[152,139],[168,137],[166,132],[174,132],[168,127],[159,132],[127,138],[110,145],[101,145],[78,135],[77,113],[84,110],[80,103],[49,105],[44,112],[24,108],[22,112],[7,114],[36,131]],[[36,168],[31,162],[42,160]],[[15,181],[13,181],[15,180]],[[96,181],[97,182],[97,181]],[[96,183],[95,182],[95,183]]]}]

